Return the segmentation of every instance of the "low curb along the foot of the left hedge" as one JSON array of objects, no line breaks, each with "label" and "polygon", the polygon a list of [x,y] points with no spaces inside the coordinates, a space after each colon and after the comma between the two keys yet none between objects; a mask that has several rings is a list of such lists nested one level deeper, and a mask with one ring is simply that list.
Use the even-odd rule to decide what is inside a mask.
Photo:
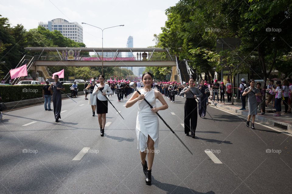
[{"label": "low curb along the foot of the left hedge", "polygon": [[[78,92],[78,96],[84,94],[84,92]],[[68,96],[71,95],[71,93],[67,94]],[[61,95],[61,98],[68,98],[65,94]],[[31,105],[39,105],[43,104],[45,102],[45,99],[43,97],[41,98],[34,98],[34,99],[27,99],[27,100],[19,100],[19,101],[14,101],[14,102],[5,102],[5,105],[7,106],[7,109],[3,112],[9,111],[11,109],[17,109],[17,108],[23,108],[26,106],[31,106]],[[53,100],[51,100],[53,102]]]}]

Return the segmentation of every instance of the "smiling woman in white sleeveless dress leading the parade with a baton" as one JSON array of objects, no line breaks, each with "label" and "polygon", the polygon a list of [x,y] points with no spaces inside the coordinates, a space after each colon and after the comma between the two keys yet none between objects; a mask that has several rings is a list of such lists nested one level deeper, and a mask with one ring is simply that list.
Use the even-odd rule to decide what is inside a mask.
[{"label": "smiling woman in white sleeveless dress leading the parade with a baton", "polygon": [[[159,121],[158,116],[155,113],[159,110],[167,109],[168,105],[160,92],[151,89],[151,84],[153,82],[151,73],[145,72],[142,75],[142,82],[144,84],[144,88],[139,90],[141,95],[139,95],[137,91],[134,92],[131,98],[127,101],[126,108],[129,108],[138,102],[138,115],[136,120],[136,135],[138,139],[137,149],[140,150],[143,172],[146,176],[145,182],[147,185],[150,185],[154,148],[158,147]],[[153,106],[153,108],[151,109],[143,99],[146,99]],[[156,107],[156,99],[162,103],[162,106]],[[147,153],[148,166],[146,162]]]}]

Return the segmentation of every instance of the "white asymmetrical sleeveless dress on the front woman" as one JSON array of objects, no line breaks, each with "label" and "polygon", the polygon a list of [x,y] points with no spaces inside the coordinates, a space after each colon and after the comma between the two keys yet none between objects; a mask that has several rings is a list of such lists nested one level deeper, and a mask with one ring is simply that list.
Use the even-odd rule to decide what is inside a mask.
[{"label": "white asymmetrical sleeveless dress on the front woman", "polygon": [[[145,99],[155,108],[156,99],[154,89],[149,92],[145,92],[141,89],[141,94],[144,94]],[[147,148],[148,135],[154,141],[154,147],[158,147],[158,129],[159,121],[156,113],[151,111],[150,106],[145,102],[145,100],[138,101],[138,115],[136,120],[136,135],[138,139],[137,149],[144,152]]]}]

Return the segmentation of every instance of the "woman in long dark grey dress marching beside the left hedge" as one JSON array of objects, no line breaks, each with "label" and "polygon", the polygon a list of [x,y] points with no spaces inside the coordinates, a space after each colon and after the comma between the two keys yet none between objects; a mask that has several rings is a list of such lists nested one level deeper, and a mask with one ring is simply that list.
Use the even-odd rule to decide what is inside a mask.
[{"label": "woman in long dark grey dress marching beside the left hedge", "polygon": [[54,75],[54,83],[51,83],[48,90],[53,90],[53,106],[54,106],[54,115],[55,115],[55,121],[59,122],[59,119],[61,119],[61,106],[62,106],[62,98],[61,98],[61,92],[60,90],[65,91],[65,88],[61,82],[59,82],[59,75]]}]

